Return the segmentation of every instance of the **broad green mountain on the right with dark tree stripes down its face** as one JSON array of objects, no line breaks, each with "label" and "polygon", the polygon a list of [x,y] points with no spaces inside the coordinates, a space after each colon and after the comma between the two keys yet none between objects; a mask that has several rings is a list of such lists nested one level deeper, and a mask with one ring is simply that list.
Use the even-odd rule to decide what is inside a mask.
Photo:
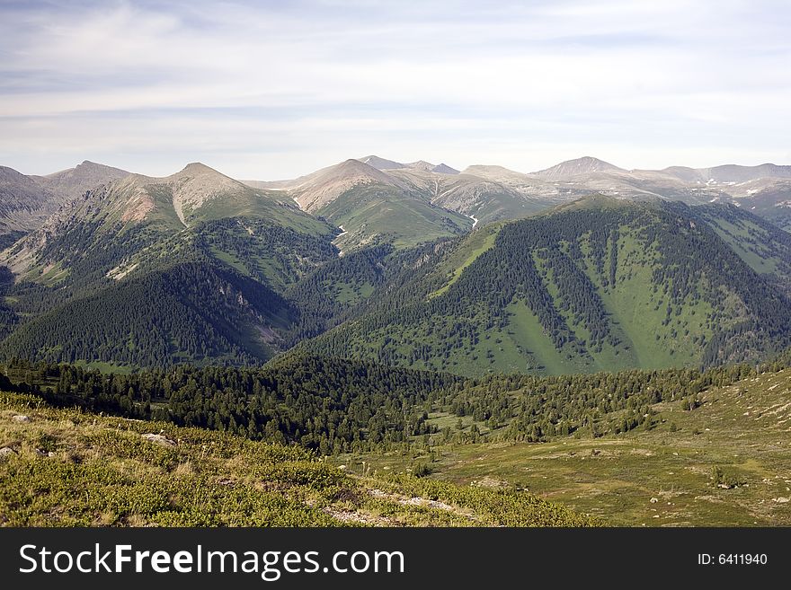
[{"label": "broad green mountain on the right with dark tree stripes down its face", "polygon": [[743,260],[760,249],[740,257],[720,237],[730,213],[589,198],[490,226],[426,252],[413,280],[304,348],[459,374],[749,360],[787,342],[791,301]]}]

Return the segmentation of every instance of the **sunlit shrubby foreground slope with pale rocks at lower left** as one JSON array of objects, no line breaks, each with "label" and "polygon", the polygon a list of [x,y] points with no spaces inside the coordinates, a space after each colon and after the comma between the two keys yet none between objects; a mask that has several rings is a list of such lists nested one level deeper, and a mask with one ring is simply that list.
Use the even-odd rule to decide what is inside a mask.
[{"label": "sunlit shrubby foreground slope with pale rocks at lower left", "polygon": [[[160,432],[173,445],[142,436]],[[6,526],[593,524],[525,492],[353,476],[296,446],[52,409],[21,394],[0,392],[0,447],[13,449],[0,457]]]}]

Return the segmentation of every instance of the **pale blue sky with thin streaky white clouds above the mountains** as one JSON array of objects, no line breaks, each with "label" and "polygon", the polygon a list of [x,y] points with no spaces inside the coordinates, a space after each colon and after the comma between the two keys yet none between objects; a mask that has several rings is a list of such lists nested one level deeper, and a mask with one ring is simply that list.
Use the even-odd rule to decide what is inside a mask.
[{"label": "pale blue sky with thin streaky white clouds above the mountains", "polygon": [[7,2],[0,164],[791,163],[783,1]]}]

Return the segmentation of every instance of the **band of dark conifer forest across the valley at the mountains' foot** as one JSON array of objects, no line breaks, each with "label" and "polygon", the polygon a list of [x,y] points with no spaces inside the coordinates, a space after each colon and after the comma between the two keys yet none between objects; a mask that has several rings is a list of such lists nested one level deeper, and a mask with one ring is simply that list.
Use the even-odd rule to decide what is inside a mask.
[{"label": "band of dark conifer forest across the valley at the mountains' foot", "polygon": [[653,405],[695,409],[711,387],[787,366],[465,379],[320,357],[289,357],[260,368],[180,365],[137,374],[14,360],[0,386],[49,403],[127,418],[223,430],[253,440],[298,443],[322,454],[399,448],[417,441],[546,442],[618,435],[655,424]]}]

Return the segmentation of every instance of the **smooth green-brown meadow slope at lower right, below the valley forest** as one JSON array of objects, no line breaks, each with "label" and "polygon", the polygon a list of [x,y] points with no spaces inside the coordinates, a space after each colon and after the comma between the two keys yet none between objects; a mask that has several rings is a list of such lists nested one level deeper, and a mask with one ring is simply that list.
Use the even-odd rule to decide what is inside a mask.
[{"label": "smooth green-brown meadow slope at lower right, below the valley forest", "polygon": [[[714,388],[700,399],[691,411],[681,401],[657,404],[657,424],[648,431],[440,447],[431,477],[528,489],[610,524],[791,524],[791,370]],[[438,426],[441,420],[457,418],[438,416]],[[466,418],[465,427],[470,424]],[[389,471],[428,460],[420,454],[364,459]],[[716,485],[715,467],[740,485]]]}]

